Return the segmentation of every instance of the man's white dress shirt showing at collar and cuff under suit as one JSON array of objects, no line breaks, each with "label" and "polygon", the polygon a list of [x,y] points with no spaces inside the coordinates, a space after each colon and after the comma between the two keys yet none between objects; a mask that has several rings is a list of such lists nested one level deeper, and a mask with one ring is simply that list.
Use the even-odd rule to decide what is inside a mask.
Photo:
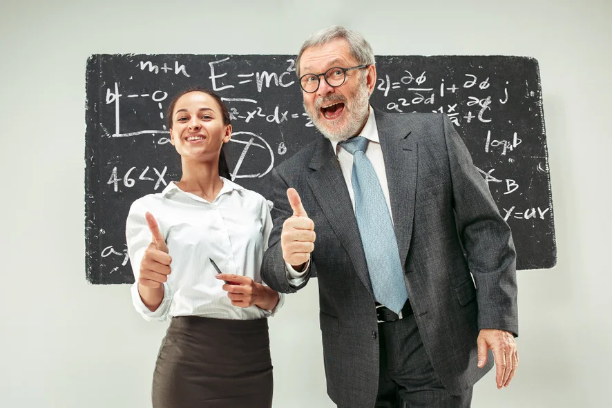
[{"label": "man's white dress shirt showing at collar and cuff under suit", "polygon": [[[383,195],[385,196],[385,202],[387,202],[387,208],[389,208],[389,214],[391,215],[391,222],[393,222],[393,213],[391,212],[391,200],[389,198],[389,186],[387,184],[387,173],[385,173],[385,161],[383,160],[383,149],[381,148],[381,139],[379,138],[379,129],[376,127],[376,118],[374,117],[374,109],[370,106],[370,115],[367,117],[367,122],[363,126],[363,130],[359,133],[359,136],[365,137],[369,143],[365,148],[365,156],[372,162],[374,172],[379,179],[381,188],[383,189]],[[353,155],[348,153],[347,150],[343,149],[342,146],[338,146],[338,142],[330,142],[334,148],[336,159],[340,163],[342,169],[342,175],[351,197],[351,203],[353,204],[353,211],[355,211],[355,194],[353,193]],[[314,226],[316,231],[316,225]],[[303,272],[298,272],[291,267],[290,264],[285,262],[287,269],[287,278],[289,283],[294,286],[299,286],[304,282],[304,275],[308,271],[310,262],[307,267],[304,268]]]}]

